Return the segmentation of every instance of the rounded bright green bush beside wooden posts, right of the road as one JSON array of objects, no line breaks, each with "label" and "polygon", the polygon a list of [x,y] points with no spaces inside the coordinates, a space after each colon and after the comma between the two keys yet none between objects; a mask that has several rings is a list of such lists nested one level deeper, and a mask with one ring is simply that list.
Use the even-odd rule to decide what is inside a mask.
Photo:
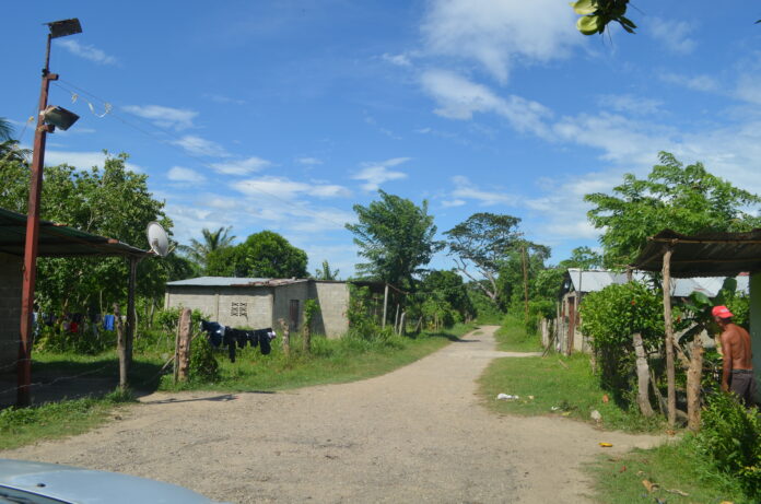
[{"label": "rounded bright green bush beside wooden posts, right of the road", "polygon": [[612,284],[587,294],[581,305],[582,332],[592,338],[602,387],[624,400],[634,366],[632,335],[647,351],[659,348],[664,335],[663,298],[645,284]]}]

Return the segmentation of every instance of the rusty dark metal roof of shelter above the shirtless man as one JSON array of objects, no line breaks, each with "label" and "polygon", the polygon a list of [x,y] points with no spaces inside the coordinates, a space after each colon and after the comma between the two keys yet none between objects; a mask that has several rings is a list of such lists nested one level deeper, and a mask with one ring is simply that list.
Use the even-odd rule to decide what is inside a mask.
[{"label": "rusty dark metal roof of shelter above the shirtless man", "polygon": [[761,228],[747,233],[683,235],[664,230],[647,238],[634,261],[637,269],[660,271],[666,247],[672,247],[671,277],[731,277],[761,270]]}]

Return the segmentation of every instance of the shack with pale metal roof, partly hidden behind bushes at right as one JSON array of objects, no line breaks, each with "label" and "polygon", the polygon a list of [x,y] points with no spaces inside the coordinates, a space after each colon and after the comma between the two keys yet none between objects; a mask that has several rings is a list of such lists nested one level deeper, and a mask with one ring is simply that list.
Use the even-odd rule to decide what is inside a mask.
[{"label": "shack with pale metal roof, partly hidden behind bushes at right", "polygon": [[[632,280],[647,281],[651,274],[647,271],[634,270]],[[726,277],[694,277],[679,278],[671,282],[671,297],[687,297],[692,292],[702,292],[709,297],[715,296],[724,284]],[[739,274],[736,277],[737,290],[749,292],[750,277]],[[553,331],[542,332],[545,347],[554,344],[555,350],[564,353],[572,351],[589,352],[590,345],[587,338],[581,331],[581,316],[578,307],[584,296],[590,292],[598,292],[608,285],[623,284],[629,281],[627,273],[610,270],[582,270],[569,268],[565,272],[560,301],[558,303],[558,317]]]}]

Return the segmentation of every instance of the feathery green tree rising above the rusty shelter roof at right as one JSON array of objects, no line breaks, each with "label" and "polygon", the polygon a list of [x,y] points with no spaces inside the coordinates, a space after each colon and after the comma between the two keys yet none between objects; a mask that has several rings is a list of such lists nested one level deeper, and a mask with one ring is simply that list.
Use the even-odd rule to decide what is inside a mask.
[{"label": "feathery green tree rising above the rusty shelter roof at right", "polygon": [[612,195],[595,192],[584,200],[595,206],[587,216],[604,230],[600,243],[608,267],[631,263],[652,236],[664,228],[693,234],[704,231],[749,231],[761,225],[750,209],[761,198],[709,173],[702,163],[684,166],[662,152],[660,164],[647,178],[632,174]]}]

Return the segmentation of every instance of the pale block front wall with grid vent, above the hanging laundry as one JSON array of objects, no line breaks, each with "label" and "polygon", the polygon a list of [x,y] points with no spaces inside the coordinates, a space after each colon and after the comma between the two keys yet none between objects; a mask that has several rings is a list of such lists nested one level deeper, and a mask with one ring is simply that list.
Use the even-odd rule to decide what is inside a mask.
[{"label": "pale block front wall with grid vent, above the hanging laundry", "polygon": [[172,286],[165,306],[198,309],[210,320],[230,327],[264,329],[272,326],[270,288]]}]

